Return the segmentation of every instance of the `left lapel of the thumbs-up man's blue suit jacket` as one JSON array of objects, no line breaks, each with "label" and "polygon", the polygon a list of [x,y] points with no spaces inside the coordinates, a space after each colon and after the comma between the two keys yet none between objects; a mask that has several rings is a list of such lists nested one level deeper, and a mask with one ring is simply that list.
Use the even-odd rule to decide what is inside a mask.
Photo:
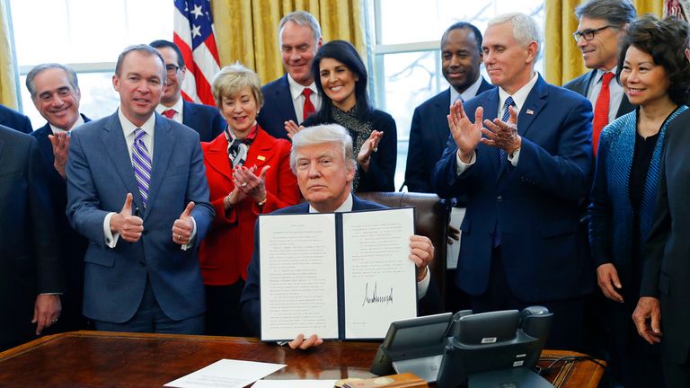
[{"label": "left lapel of the thumbs-up man's blue suit jacket", "polygon": [[132,160],[129,157],[127,142],[122,133],[122,126],[119,124],[118,111],[115,111],[115,114],[111,115],[105,122],[101,140],[103,147],[111,157],[111,165],[115,167],[127,191],[132,193],[135,204],[140,208],[144,208],[141,195],[139,194],[139,187],[137,186],[137,179],[134,177],[134,169],[132,168]]}]

